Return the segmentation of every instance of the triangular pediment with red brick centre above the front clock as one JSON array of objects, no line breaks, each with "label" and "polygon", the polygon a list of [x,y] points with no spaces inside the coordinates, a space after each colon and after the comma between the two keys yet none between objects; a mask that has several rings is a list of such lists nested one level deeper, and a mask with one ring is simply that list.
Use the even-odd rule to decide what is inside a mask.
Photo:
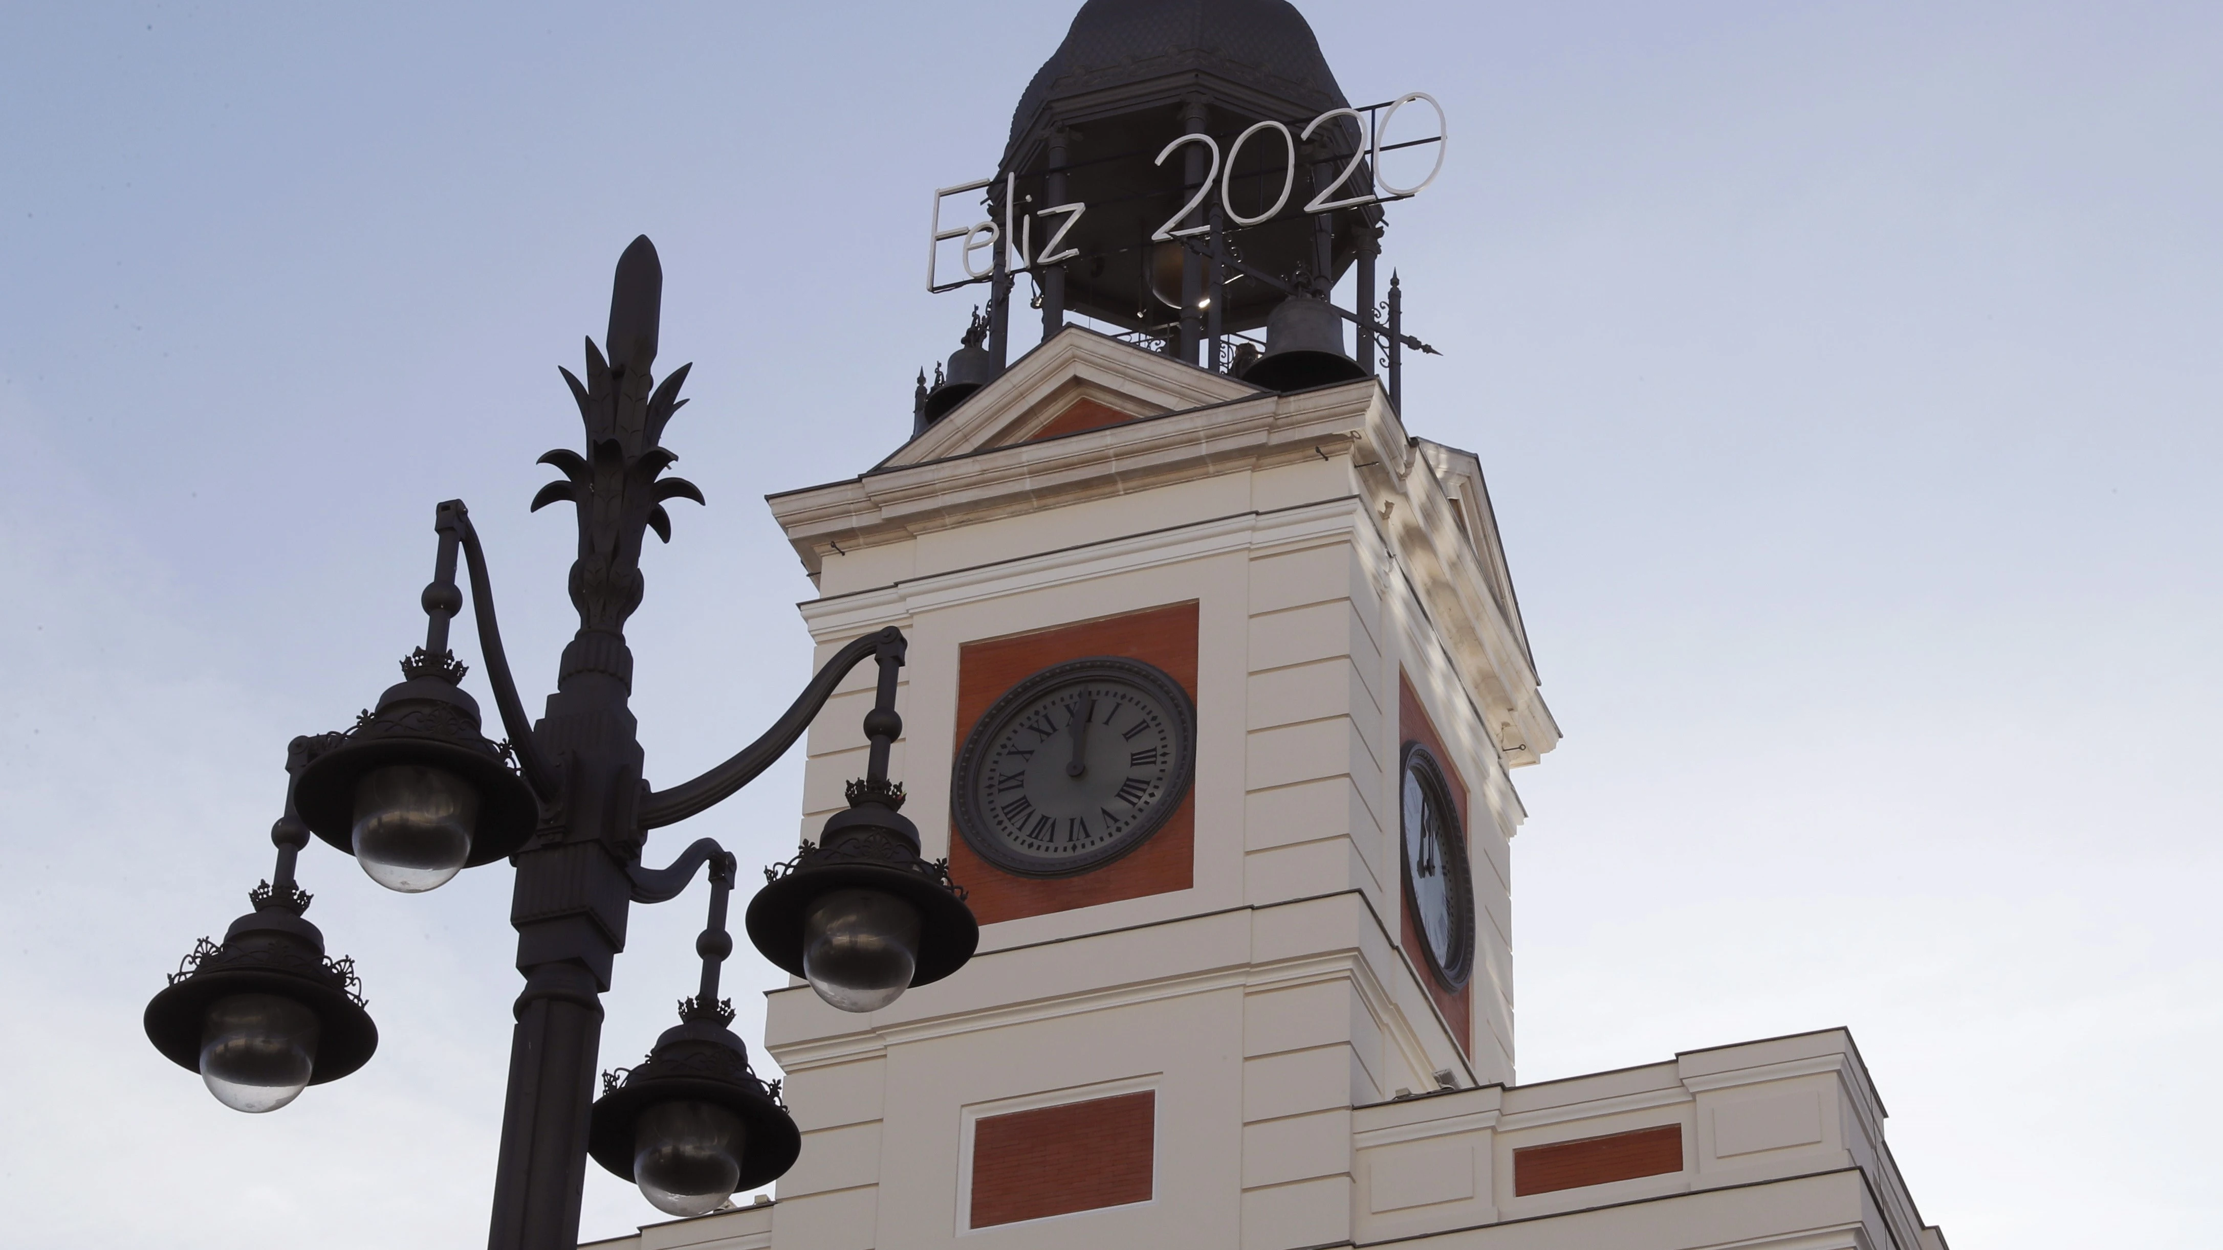
[{"label": "triangular pediment with red brick centre above the front clock", "polygon": [[1100,429],[1258,395],[1258,386],[1172,360],[1112,335],[1065,326],[880,468],[947,460],[991,446]]}]

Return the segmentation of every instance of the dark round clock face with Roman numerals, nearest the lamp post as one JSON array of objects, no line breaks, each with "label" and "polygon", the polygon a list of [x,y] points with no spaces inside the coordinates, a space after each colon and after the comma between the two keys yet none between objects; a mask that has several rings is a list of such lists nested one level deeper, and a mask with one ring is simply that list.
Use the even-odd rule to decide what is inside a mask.
[{"label": "dark round clock face with Roman numerals, nearest the lamp post", "polygon": [[1134,850],[1189,790],[1196,715],[1134,659],[1054,664],[1011,686],[958,753],[958,833],[1011,873],[1080,873]]}]

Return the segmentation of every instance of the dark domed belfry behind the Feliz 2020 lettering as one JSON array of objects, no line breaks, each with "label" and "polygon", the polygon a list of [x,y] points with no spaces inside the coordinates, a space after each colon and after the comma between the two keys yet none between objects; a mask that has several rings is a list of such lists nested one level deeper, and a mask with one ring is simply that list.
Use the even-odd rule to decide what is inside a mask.
[{"label": "dark domed belfry behind the Feliz 2020 lettering", "polygon": [[[1071,311],[1154,333],[1178,324],[1183,284],[1200,255],[1158,231],[1189,211],[1183,209],[1196,187],[1189,180],[1207,173],[1198,147],[1183,160],[1163,162],[1167,142],[1194,131],[1225,155],[1252,124],[1280,122],[1296,144],[1296,133],[1314,118],[1345,107],[1320,42],[1287,0],[1087,0],[1020,95],[985,200],[994,220],[1007,220],[1007,195],[1020,198],[1020,211],[1025,204],[1085,206],[1065,218],[1071,233],[1060,235],[1058,315]],[[1243,202],[1258,209],[1276,202],[1274,187],[1292,191],[1269,220],[1223,233],[1227,258],[1249,275],[1223,286],[1214,317],[1227,331],[1263,326],[1285,284],[1332,284],[1356,262],[1380,209],[1309,213],[1305,204],[1340,180],[1352,187],[1372,180],[1358,151],[1363,142],[1363,127],[1343,115],[1318,127],[1303,153],[1289,153],[1298,158],[1296,169],[1285,164],[1280,144],[1267,140],[1243,149],[1234,169],[1218,175],[1225,178],[1223,195],[1236,187]],[[1192,164],[1196,169],[1187,169]],[[1045,229],[1034,222],[1040,215],[1020,222]],[[1014,231],[1027,226],[1011,224]]]}]

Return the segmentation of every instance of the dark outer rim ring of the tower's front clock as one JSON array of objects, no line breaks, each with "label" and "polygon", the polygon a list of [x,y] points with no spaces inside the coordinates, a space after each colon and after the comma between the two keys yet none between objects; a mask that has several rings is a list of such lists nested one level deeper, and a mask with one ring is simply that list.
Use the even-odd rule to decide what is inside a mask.
[{"label": "dark outer rim ring of the tower's front clock", "polygon": [[[1011,855],[1011,850],[1005,848],[994,835],[983,833],[991,826],[991,821],[980,810],[980,788],[974,784],[976,773],[987,764],[996,742],[1003,739],[1009,722],[1020,710],[1036,704],[1045,695],[1051,695],[1060,686],[1085,686],[1089,682],[1140,686],[1165,708],[1174,737],[1174,766],[1165,782],[1165,799],[1147,815],[1147,819],[1123,833],[1112,846],[1056,866],[1020,859]],[[985,713],[980,713],[971,733],[965,735],[965,746],[958,750],[958,759],[949,773],[949,824],[956,828],[956,835],[965,839],[965,846],[991,868],[1011,873],[1014,877],[1034,879],[1078,877],[1080,873],[1094,873],[1096,868],[1132,855],[1136,848],[1156,837],[1165,821],[1172,819],[1183,802],[1187,802],[1194,779],[1196,702],[1189,699],[1189,693],[1180,686],[1180,682],[1143,659],[1127,659],[1125,655],[1085,655],[1080,659],[1063,659],[1020,677],[1009,690],[998,695]]]}]

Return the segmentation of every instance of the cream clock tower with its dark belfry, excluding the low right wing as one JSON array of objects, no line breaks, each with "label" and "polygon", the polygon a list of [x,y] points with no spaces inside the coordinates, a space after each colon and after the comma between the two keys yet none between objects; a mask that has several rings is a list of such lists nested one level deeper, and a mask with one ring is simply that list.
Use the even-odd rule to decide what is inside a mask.
[{"label": "cream clock tower with its dark belfry, excluding the low right wing", "polygon": [[[1149,147],[1149,169],[1185,118],[1232,138],[1340,107],[1278,0],[1098,0],[1029,87],[1007,164],[1040,171],[1056,140],[1074,164]],[[1356,127],[1336,135],[1358,151]],[[1160,184],[1178,206],[1180,169]],[[1380,353],[1354,360],[1320,298],[1378,206],[1289,200],[1240,262],[1278,269],[1247,280],[1214,271],[1214,240],[1123,258],[1096,238],[1063,289],[1100,329],[1047,324],[998,366],[976,322],[916,437],[771,497],[820,655],[909,637],[891,775],[983,926],[963,975],[874,1015],[771,995],[805,1132],[778,1241],[1347,1241],[1354,1108],[1514,1077],[1509,777],[1558,728],[1481,462],[1407,429]],[[1300,366],[1243,371],[1269,386],[1203,333],[1185,355],[1180,309],[1152,313],[1147,275],[1118,286],[1138,258],[1167,289],[1183,264],[1234,289],[1220,335],[1265,329],[1256,360]],[[998,273],[991,300],[1007,289]],[[1329,309],[1327,333],[1276,300]],[[843,806],[858,762],[836,726],[869,697],[820,717],[805,837]]]}]

